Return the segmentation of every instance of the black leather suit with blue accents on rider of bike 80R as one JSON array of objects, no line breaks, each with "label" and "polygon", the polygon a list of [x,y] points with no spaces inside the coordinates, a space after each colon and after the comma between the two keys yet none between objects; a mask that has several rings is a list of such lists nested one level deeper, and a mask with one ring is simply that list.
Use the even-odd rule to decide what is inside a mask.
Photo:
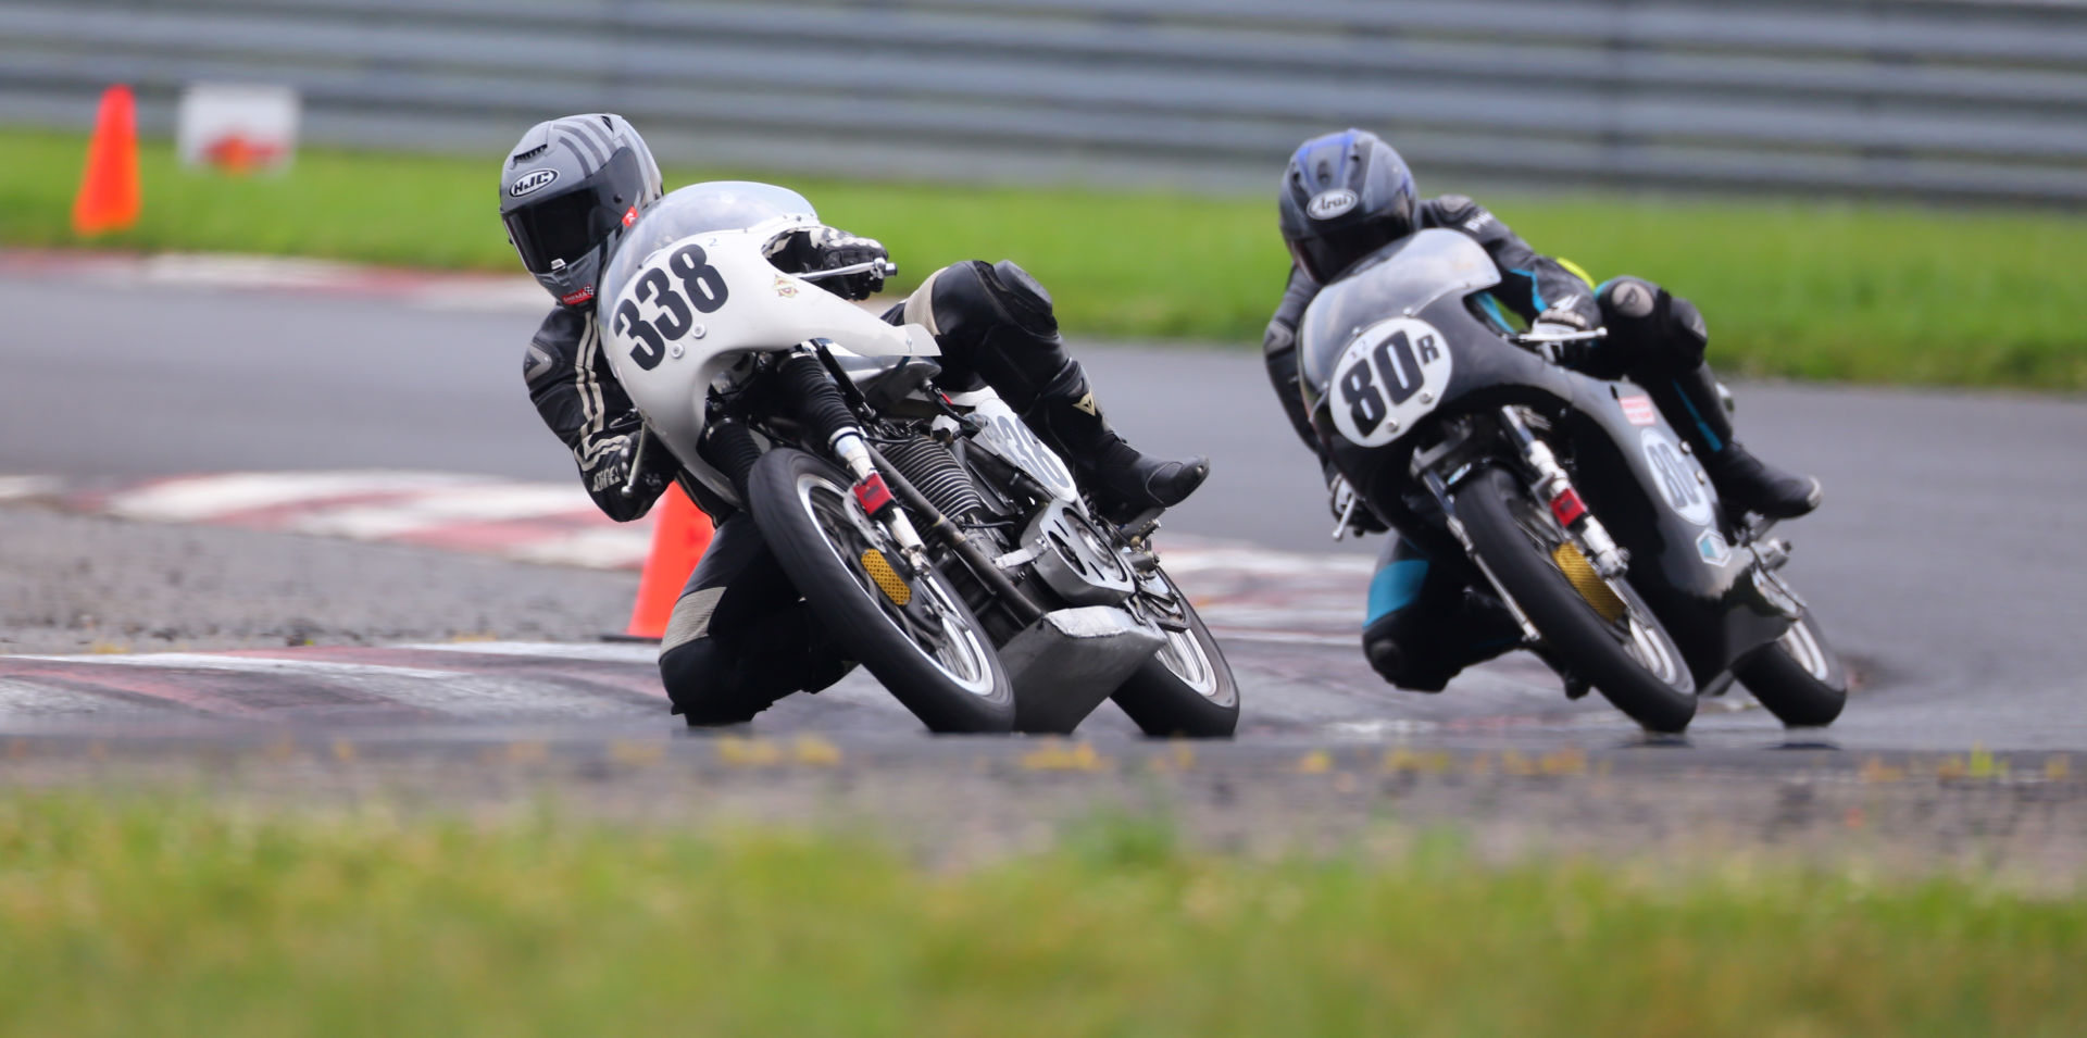
[{"label": "black leather suit with blue accents on rider of bike 80R", "polygon": [[[1730,426],[1716,403],[1716,382],[1703,365],[1703,320],[1693,305],[1638,278],[1615,278],[1594,288],[1557,259],[1530,249],[1463,194],[1421,203],[1417,226],[1457,230],[1482,244],[1503,276],[1488,292],[1490,303],[1524,322],[1544,311],[1567,311],[1586,328],[1607,326],[1609,338],[1576,357],[1574,368],[1599,378],[1628,374],[1642,382],[1668,420],[1711,453],[1730,441]],[[1317,294],[1319,284],[1292,267],[1263,349],[1269,380],[1290,424],[1332,476],[1327,451],[1311,428],[1298,391],[1296,330]],[[1394,530],[1369,581],[1369,612],[1363,622],[1369,662],[1394,685],[1438,691],[1465,666],[1519,643],[1521,631],[1507,610],[1476,593],[1476,587],[1484,587],[1484,581],[1467,560],[1430,558]]]}]

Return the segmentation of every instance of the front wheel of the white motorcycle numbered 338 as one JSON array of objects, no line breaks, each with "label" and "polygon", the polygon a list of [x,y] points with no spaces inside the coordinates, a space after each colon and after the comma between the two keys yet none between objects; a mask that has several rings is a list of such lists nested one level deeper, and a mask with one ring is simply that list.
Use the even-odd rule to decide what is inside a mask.
[{"label": "front wheel of the white motorcycle numbered 338", "polygon": [[979,620],[939,572],[904,574],[851,482],[778,447],[747,476],[747,512],[835,641],[931,731],[1014,731],[1014,685]]}]

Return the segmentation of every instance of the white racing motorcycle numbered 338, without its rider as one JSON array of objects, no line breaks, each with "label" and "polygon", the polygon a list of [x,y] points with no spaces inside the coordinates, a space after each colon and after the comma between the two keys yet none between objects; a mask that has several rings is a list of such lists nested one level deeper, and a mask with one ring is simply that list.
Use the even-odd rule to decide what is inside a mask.
[{"label": "white racing motorcycle numbered 338, without its rider", "polygon": [[[1073,731],[1102,700],[1152,735],[1231,735],[1240,693],[1152,516],[1112,524],[989,388],[935,386],[889,326],[768,261],[812,230],[785,188],[680,188],[601,282],[609,363],[659,443],[753,518],[849,658],[933,731]],[[889,269],[887,269],[889,272]]]}]

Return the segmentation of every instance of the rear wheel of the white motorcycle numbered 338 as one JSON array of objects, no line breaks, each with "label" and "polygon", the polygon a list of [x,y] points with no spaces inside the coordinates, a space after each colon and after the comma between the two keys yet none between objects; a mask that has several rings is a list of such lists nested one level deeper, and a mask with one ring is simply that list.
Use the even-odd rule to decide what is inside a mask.
[{"label": "rear wheel of the white motorcycle numbered 338", "polygon": [[1229,739],[1240,727],[1240,683],[1231,679],[1231,664],[1188,595],[1165,572],[1158,581],[1188,631],[1167,631],[1167,645],[1137,664],[1112,698],[1146,735]]}]

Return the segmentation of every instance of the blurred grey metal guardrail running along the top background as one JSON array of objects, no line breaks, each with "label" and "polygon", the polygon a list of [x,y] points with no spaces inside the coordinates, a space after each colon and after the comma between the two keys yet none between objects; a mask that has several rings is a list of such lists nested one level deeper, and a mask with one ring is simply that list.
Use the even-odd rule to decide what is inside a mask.
[{"label": "blurred grey metal guardrail running along the top background", "polygon": [[0,121],[198,79],[480,152],[601,109],[714,165],[1258,188],[1363,125],[1423,178],[2087,200],[2083,2],[0,0]]}]

